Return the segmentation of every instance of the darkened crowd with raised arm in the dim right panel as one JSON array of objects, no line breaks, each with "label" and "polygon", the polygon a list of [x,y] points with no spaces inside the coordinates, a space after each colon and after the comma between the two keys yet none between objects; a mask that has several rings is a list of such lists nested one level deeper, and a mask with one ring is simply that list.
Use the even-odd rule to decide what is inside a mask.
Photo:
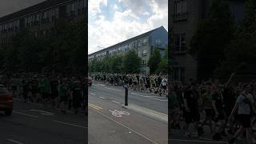
[{"label": "darkened crowd with raised arm in the dim right panel", "polygon": [[254,143],[256,82],[235,84],[233,77],[234,74],[223,83],[219,79],[171,83],[171,129],[181,129],[186,137],[198,138],[208,128],[216,141],[230,135],[230,144],[242,136],[248,144]]}]

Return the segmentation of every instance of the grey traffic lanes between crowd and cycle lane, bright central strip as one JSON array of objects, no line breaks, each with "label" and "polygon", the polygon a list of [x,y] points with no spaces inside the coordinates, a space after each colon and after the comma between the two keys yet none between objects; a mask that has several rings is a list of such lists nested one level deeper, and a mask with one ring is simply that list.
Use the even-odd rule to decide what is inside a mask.
[{"label": "grey traffic lanes between crowd and cycle lane, bright central strip", "polygon": [[[125,89],[122,86],[106,86],[100,82],[93,82],[93,86],[89,88],[89,94],[97,94],[103,98],[113,100],[115,102],[125,102]],[[138,106],[146,107],[163,114],[168,114],[168,98],[158,94],[141,93],[138,90],[128,91],[128,103],[134,103]]]}]

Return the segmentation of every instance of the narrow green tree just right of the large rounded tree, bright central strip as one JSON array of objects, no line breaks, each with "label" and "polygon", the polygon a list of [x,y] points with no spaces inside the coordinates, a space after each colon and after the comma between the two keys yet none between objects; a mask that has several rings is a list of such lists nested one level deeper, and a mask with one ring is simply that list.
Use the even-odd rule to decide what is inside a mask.
[{"label": "narrow green tree just right of the large rounded tree, bright central strip", "polygon": [[155,48],[148,62],[148,66],[150,67],[150,74],[154,74],[154,72],[158,70],[158,65],[160,61],[161,61],[160,51],[157,48]]}]

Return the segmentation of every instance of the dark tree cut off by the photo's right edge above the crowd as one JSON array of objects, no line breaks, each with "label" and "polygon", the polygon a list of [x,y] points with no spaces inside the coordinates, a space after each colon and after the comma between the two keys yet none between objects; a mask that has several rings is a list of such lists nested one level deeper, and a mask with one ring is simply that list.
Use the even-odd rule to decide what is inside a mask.
[{"label": "dark tree cut off by the photo's right edge above the crowd", "polygon": [[[234,39],[226,50],[226,61],[216,70],[218,77],[229,78],[236,70],[238,73],[256,71],[256,1],[247,0],[245,17],[234,33]],[[240,67],[242,63],[246,66]]]}]

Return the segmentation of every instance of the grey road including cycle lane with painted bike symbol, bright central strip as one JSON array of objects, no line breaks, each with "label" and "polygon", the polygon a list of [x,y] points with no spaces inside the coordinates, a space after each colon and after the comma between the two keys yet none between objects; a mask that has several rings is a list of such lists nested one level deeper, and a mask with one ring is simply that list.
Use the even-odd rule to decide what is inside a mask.
[{"label": "grey road including cycle lane with painted bike symbol, bright central strip", "polygon": [[[96,82],[89,87],[89,143],[168,143],[168,123],[122,106],[124,103],[124,90],[122,89],[122,87],[105,86]],[[152,99],[154,97],[136,97],[135,94],[131,96],[131,93],[134,92],[129,92],[129,105],[140,105],[146,110],[153,109],[159,114],[167,111],[163,108],[167,104],[166,101]],[[146,96],[146,94],[144,95]],[[164,98],[159,99],[163,100]],[[147,102],[150,102],[150,104]],[[158,106],[159,103],[162,106]]]}]

